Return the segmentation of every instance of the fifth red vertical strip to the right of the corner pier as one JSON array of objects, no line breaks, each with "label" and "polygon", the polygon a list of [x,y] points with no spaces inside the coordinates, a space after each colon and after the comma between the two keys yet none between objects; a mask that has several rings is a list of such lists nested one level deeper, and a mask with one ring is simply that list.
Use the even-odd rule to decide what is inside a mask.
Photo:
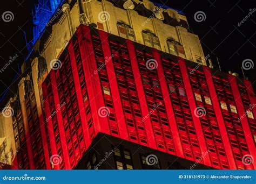
[{"label": "fifth red vertical strip to the right of the corner pier", "polygon": [[205,77],[207,80],[208,89],[210,91],[213,108],[214,108],[217,122],[219,125],[220,135],[223,140],[223,145],[224,145],[224,148],[226,151],[226,155],[228,155],[227,156],[228,164],[230,165],[230,169],[237,169],[237,166],[236,166],[235,160],[234,160],[233,151],[232,151],[231,144],[230,144],[230,139],[228,139],[227,129],[226,129],[224,118],[223,118],[223,115],[222,115],[222,112],[220,109],[217,93],[215,91],[212,74],[211,74],[211,69],[208,67],[205,67],[205,66],[203,66],[203,68],[204,68],[204,73],[205,73]]}]

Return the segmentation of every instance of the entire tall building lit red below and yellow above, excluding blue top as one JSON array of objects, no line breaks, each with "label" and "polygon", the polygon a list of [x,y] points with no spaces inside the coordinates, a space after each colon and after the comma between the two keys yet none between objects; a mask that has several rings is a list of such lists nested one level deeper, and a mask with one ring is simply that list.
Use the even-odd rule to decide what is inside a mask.
[{"label": "entire tall building lit red below and yellow above, excluding blue top", "polygon": [[[69,1],[49,23],[5,107],[12,116],[2,112],[12,168],[255,169],[251,82],[212,69],[183,12]],[[113,142],[99,151],[112,153],[104,165],[91,151],[101,138]],[[149,164],[151,154],[160,161]]]}]

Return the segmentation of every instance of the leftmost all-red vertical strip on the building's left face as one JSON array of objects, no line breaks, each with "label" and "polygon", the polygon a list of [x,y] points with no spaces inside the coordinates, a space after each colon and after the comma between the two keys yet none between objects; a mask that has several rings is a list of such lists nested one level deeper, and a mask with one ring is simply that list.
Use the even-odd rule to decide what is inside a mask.
[{"label": "leftmost all-red vertical strip on the building's left face", "polygon": [[[48,80],[48,78],[46,80]],[[46,121],[46,123],[47,123],[47,128],[48,128],[48,133],[49,133],[49,140],[50,140],[49,144],[51,147],[51,154],[55,155],[58,153],[57,153],[57,147],[56,147],[56,141],[55,141],[52,121],[51,121],[51,118],[48,118],[48,117],[51,117],[51,110],[49,107],[48,91],[47,91],[47,87],[46,87],[46,82],[44,82],[42,84],[42,89],[43,89],[43,97],[44,97],[45,117],[48,119],[48,121]],[[60,169],[59,165],[55,165],[54,169]]]}]

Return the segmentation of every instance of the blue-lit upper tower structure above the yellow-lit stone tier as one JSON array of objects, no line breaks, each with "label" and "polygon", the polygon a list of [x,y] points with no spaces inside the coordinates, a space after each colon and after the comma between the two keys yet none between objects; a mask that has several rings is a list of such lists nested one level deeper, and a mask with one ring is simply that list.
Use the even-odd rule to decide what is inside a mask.
[{"label": "blue-lit upper tower structure above the yellow-lit stone tier", "polygon": [[34,27],[33,39],[27,44],[29,51],[32,50],[36,41],[41,38],[46,24],[63,2],[64,0],[38,0],[38,4],[35,5],[35,9],[32,11]]}]

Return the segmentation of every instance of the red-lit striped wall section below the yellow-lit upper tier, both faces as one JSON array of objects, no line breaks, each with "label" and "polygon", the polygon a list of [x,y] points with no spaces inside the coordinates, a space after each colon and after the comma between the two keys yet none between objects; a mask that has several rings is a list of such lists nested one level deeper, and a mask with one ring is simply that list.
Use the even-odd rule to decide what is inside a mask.
[{"label": "red-lit striped wall section below the yellow-lit upper tier, both faces", "polygon": [[[204,155],[199,162],[217,169],[256,168],[241,161],[256,158],[255,119],[239,121],[255,103],[250,82],[193,70],[190,61],[84,25],[67,51],[43,83],[45,117],[53,115],[46,122],[49,153],[63,160],[54,169],[74,168],[98,132],[192,161]],[[147,68],[149,60],[156,69]],[[198,107],[204,116],[194,113]]]}]

